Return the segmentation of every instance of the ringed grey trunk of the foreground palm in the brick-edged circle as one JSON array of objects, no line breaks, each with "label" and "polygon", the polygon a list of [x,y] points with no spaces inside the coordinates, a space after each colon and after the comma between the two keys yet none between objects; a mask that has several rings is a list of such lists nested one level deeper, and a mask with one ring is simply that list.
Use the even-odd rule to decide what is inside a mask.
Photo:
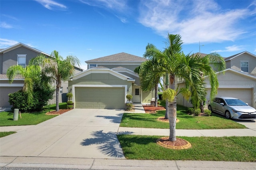
[{"label": "ringed grey trunk of the foreground palm in the brick-edged circle", "polygon": [[[170,88],[175,90],[175,79],[174,75],[170,75]],[[168,101],[168,118],[169,118],[169,125],[170,125],[170,141],[176,141],[176,110],[177,110],[177,103],[176,103],[176,95],[174,97],[174,101]]]}]

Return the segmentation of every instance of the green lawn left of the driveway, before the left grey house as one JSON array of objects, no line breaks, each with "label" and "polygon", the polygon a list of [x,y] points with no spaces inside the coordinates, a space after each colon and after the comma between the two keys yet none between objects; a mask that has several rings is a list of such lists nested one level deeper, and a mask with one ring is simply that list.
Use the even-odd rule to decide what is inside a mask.
[{"label": "green lawn left of the driveway, before the left grey house", "polygon": [[[66,103],[60,103],[60,109],[66,109]],[[48,119],[52,119],[57,115],[46,115],[48,111],[56,109],[56,105],[50,105],[49,109],[33,112],[33,113],[21,113],[18,115],[18,121],[13,121],[13,111],[0,112],[0,126],[19,126],[19,125],[37,125]]]}]

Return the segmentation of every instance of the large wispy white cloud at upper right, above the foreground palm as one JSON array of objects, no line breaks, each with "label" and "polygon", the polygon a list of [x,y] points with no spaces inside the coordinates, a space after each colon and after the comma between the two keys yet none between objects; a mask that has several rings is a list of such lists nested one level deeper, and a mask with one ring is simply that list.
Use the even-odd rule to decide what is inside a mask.
[{"label": "large wispy white cloud at upper right, above the foreground palm", "polygon": [[162,36],[180,34],[184,43],[234,41],[246,31],[238,20],[246,9],[222,10],[213,0],[142,1],[139,22]]}]

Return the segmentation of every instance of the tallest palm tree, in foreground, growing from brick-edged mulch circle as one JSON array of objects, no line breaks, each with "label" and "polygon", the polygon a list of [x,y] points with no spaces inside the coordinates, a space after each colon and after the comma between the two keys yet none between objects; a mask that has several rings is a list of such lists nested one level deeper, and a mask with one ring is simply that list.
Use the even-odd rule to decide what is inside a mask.
[{"label": "tallest palm tree, in foreground, growing from brick-edged mulch circle", "polygon": [[[176,95],[178,93],[189,95],[187,89],[190,89],[192,97],[198,101],[204,101],[206,98],[206,89],[202,75],[207,73],[210,77],[214,77],[215,72],[209,65],[208,60],[198,56],[191,56],[190,54],[184,55],[182,52],[182,40],[180,35],[168,34],[166,47],[164,51],[156,48],[148,49],[149,53],[153,53],[160,61],[161,67],[159,71],[168,73],[169,75],[169,88],[163,93],[163,98],[167,99],[168,105],[168,118],[170,124],[170,141],[176,140]],[[214,74],[214,75],[213,75]],[[216,76],[216,75],[215,75]],[[185,82],[185,89],[176,89],[175,78],[183,79]],[[217,88],[216,81],[212,86]]]}]

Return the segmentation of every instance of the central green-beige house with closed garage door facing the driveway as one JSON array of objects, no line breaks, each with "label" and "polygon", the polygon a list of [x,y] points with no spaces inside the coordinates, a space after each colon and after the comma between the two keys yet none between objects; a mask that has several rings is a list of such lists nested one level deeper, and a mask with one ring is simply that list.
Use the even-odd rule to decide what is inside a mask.
[{"label": "central green-beige house with closed garage door facing the driveway", "polygon": [[[147,59],[128,53],[117,53],[85,61],[88,70],[68,82],[75,108],[124,109],[132,95],[132,103],[150,103],[154,91],[145,93],[134,69]],[[152,93],[153,92],[153,93]]]}]

